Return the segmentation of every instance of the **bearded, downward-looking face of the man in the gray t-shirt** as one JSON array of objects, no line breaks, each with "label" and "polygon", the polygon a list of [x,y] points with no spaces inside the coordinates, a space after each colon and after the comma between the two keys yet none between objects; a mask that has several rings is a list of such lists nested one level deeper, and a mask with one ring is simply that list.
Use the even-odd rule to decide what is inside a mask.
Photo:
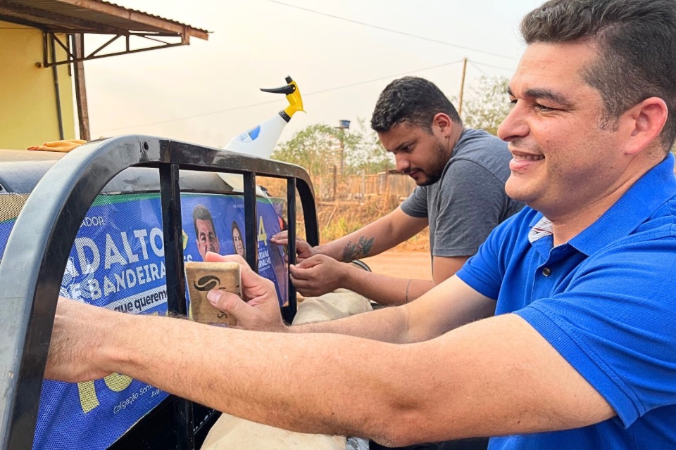
[{"label": "bearded, downward-looking face of the man in the gray t-shirt", "polygon": [[418,186],[439,181],[446,162],[451,158],[450,130],[453,122],[447,120],[448,116],[443,116],[442,126],[435,116],[431,133],[408,122],[396,123],[388,131],[378,133],[384,148],[394,154],[397,172],[411,176]]}]

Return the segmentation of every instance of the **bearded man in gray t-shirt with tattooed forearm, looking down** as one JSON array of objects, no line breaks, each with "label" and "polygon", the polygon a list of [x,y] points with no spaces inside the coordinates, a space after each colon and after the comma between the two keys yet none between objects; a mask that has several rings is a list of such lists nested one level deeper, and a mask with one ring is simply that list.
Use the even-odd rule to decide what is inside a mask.
[{"label": "bearded man in gray t-shirt with tattooed forearm, looking down", "polygon": [[[504,184],[511,154],[485,131],[465,129],[456,108],[431,82],[404,77],[380,94],[371,127],[394,154],[396,169],[418,184],[401,207],[330,243],[298,240],[291,266],[296,289],[318,296],[347,288],[380,304],[403,304],[450,278],[501,221],[521,209]],[[432,280],[359,270],[353,259],[377,255],[430,226]],[[273,242],[287,243],[286,232]]]}]

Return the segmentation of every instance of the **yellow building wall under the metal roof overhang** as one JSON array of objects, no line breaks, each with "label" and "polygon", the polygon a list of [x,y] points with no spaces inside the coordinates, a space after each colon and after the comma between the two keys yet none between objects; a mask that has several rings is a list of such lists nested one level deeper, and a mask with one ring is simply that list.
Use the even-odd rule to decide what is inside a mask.
[{"label": "yellow building wall under the metal roof overhang", "polygon": [[[59,38],[65,42],[65,36]],[[58,60],[65,51],[56,44]],[[27,148],[59,139],[52,68],[42,62],[42,32],[0,21],[0,148]],[[73,78],[58,65],[64,139],[75,139]]]}]

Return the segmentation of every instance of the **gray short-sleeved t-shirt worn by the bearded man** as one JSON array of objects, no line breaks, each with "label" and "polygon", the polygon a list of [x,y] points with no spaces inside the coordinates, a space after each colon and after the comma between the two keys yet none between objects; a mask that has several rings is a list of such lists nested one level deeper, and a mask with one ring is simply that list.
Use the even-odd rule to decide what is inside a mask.
[{"label": "gray short-sleeved t-shirt worn by the bearded man", "polygon": [[412,217],[427,217],[432,256],[471,256],[523,203],[505,193],[511,153],[507,143],[483,130],[465,129],[442,178],[418,186],[401,204]]}]

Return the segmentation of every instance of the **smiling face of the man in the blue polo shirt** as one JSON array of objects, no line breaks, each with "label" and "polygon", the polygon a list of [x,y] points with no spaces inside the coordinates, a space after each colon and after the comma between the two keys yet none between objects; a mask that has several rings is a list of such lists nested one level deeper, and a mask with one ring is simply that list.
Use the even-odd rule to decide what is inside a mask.
[{"label": "smiling face of the man in the blue polo shirt", "polygon": [[603,203],[627,168],[620,121],[603,124],[601,95],[582,79],[596,55],[590,44],[531,44],[510,82],[514,106],[498,129],[513,155],[505,189],[549,219]]}]

